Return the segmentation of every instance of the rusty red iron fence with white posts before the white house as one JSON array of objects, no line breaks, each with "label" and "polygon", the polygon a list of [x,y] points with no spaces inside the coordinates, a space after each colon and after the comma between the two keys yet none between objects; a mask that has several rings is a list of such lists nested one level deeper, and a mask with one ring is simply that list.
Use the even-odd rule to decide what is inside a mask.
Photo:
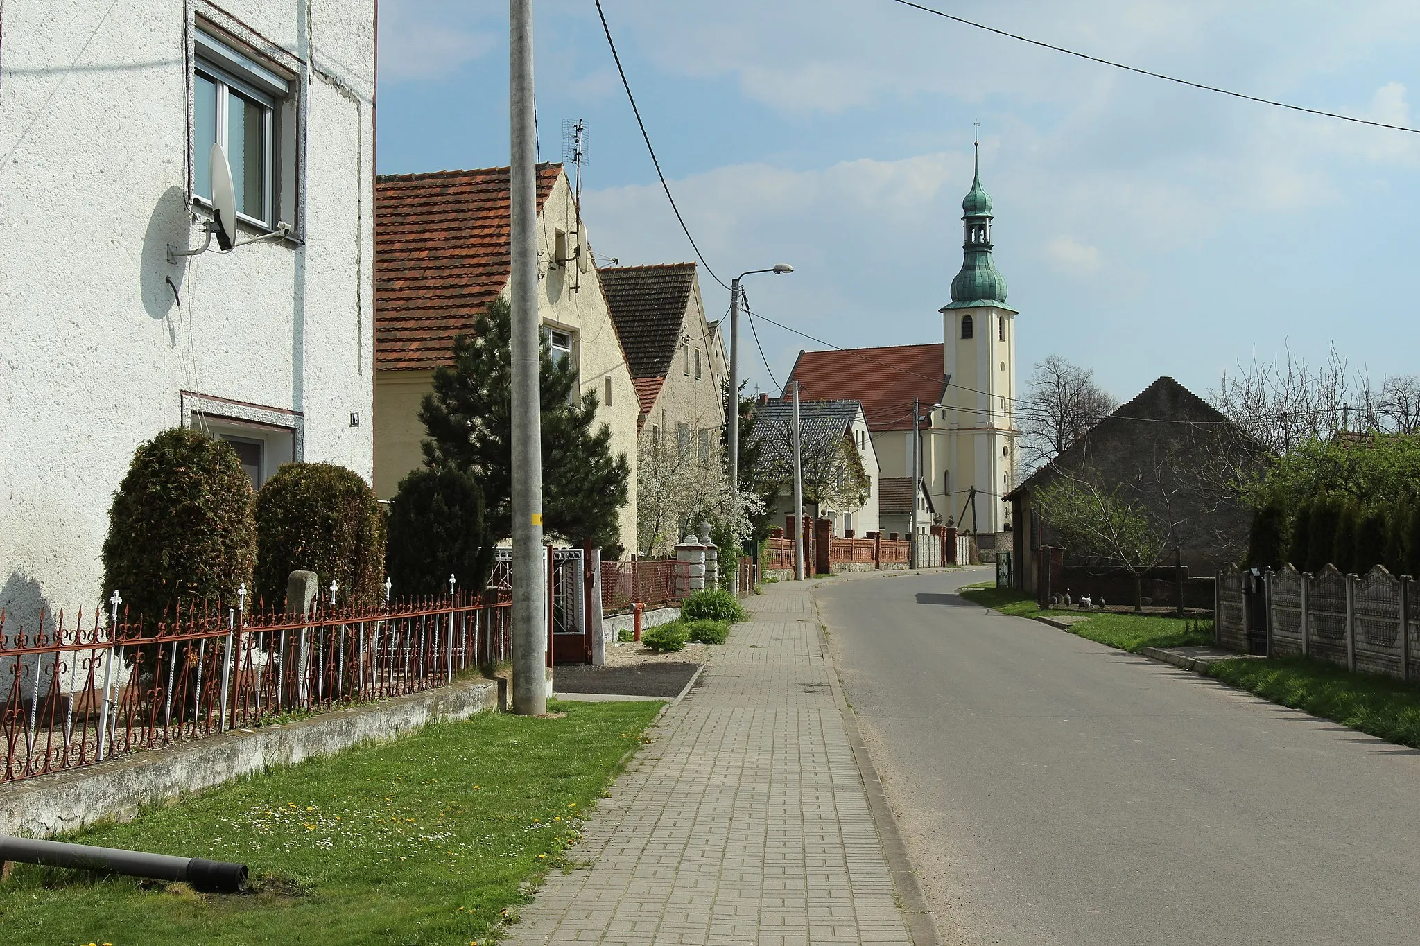
[{"label": "rusty red iron fence with white posts before the white house", "polygon": [[129,624],[116,606],[72,624],[0,613],[0,781],[400,696],[511,657],[510,597],[493,589],[307,617],[195,613]]}]

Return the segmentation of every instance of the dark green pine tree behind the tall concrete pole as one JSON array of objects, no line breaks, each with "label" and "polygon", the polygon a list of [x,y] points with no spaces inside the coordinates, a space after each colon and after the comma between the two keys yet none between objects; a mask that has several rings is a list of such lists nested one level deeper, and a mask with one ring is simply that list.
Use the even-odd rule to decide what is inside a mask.
[{"label": "dark green pine tree behind the tall concrete pole", "polygon": [[[419,408],[429,437],[425,464],[453,465],[483,491],[491,540],[513,535],[513,313],[494,299],[471,330],[454,339],[454,363],[435,372],[433,391]],[[569,542],[591,540],[608,555],[619,549],[619,515],[630,495],[630,465],[612,455],[611,428],[596,421],[596,396],[578,397],[577,369],[554,362],[544,342],[542,522]]]}]

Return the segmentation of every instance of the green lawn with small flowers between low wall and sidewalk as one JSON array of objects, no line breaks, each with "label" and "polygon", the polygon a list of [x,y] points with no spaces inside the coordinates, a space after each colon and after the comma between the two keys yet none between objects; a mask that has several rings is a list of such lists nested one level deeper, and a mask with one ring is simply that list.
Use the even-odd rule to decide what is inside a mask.
[{"label": "green lawn with small flowers between low wall and sidewalk", "polygon": [[487,942],[524,884],[562,862],[660,705],[435,723],[88,828],[64,840],[244,861],[254,891],[16,865],[0,943]]}]

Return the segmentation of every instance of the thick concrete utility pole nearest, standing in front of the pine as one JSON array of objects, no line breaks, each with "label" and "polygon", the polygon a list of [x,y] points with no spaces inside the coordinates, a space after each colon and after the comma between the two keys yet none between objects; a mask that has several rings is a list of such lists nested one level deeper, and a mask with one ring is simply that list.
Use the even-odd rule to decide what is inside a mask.
[{"label": "thick concrete utility pole nearest, standing in front of the pine", "polygon": [[542,569],[542,411],[537,313],[537,122],[532,0],[510,0],[513,155],[513,712],[547,712],[547,576]]}]

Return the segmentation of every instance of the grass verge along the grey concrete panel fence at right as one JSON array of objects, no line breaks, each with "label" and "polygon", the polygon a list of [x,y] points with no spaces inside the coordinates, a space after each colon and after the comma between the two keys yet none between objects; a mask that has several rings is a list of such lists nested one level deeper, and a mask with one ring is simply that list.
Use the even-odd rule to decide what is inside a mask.
[{"label": "grass verge along the grey concrete panel fence at right", "polygon": [[1220,661],[1208,677],[1284,706],[1420,749],[1420,686],[1306,657]]}]

